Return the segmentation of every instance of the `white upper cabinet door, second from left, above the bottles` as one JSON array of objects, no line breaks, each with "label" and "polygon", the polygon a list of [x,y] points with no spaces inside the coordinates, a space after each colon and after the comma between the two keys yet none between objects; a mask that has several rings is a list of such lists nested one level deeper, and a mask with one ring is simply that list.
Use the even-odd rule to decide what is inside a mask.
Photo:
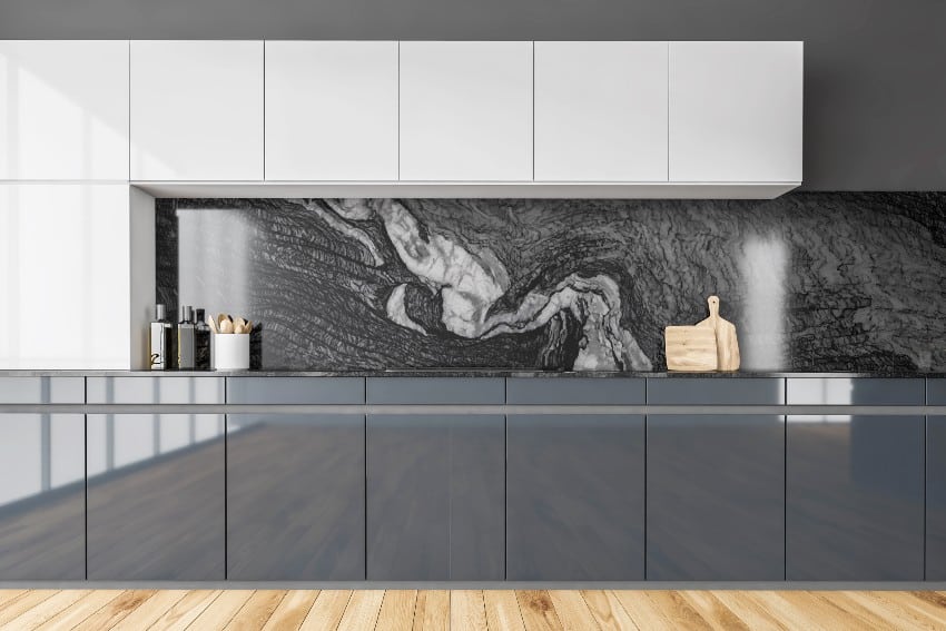
[{"label": "white upper cabinet door, second from left, above the bottles", "polygon": [[263,179],[263,42],[131,42],[131,179]]}]

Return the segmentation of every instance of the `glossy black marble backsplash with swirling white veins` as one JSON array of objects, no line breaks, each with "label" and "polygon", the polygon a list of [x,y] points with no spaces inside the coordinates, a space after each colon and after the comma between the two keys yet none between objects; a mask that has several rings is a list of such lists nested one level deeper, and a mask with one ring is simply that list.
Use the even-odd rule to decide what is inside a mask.
[{"label": "glossy black marble backsplash with swirling white veins", "polygon": [[162,199],[157,252],[264,368],[663,369],[717,294],[743,369],[946,369],[946,194]]}]

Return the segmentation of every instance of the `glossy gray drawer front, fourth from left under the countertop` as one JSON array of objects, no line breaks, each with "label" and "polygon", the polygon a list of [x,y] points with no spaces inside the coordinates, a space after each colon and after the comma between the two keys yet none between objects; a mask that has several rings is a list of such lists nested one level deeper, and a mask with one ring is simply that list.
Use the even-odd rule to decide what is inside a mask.
[{"label": "glossy gray drawer front, fourth from left under the countertop", "polygon": [[400,405],[502,405],[502,378],[368,377],[368,403]]}]

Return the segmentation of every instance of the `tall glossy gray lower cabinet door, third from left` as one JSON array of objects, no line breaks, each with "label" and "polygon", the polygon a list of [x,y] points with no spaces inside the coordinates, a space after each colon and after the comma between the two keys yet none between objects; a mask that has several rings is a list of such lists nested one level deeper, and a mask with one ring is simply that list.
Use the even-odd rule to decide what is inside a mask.
[{"label": "tall glossy gray lower cabinet door, third from left", "polygon": [[364,416],[227,416],[227,578],[365,579]]}]

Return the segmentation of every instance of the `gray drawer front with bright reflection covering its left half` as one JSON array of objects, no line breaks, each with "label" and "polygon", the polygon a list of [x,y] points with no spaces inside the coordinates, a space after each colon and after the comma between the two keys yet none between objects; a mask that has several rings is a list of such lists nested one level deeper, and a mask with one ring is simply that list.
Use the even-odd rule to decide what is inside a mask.
[{"label": "gray drawer front with bright reflection covering its left half", "polygon": [[924,379],[789,378],[789,405],[923,405]]}]

